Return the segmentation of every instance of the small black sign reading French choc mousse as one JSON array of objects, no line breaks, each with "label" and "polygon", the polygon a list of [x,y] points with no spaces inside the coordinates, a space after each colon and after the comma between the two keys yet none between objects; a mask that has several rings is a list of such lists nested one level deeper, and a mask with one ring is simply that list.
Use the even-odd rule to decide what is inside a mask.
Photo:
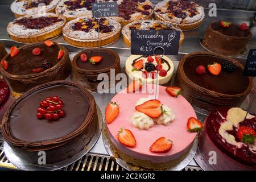
[{"label": "small black sign reading French choc mousse", "polygon": [[119,16],[117,2],[100,2],[92,3],[92,13],[100,11],[102,17],[106,16]]}]

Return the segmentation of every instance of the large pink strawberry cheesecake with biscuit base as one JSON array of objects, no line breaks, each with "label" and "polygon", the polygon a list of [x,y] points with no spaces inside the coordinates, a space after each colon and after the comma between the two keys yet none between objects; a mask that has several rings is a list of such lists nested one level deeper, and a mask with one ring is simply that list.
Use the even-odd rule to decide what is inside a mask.
[{"label": "large pink strawberry cheesecake with biscuit base", "polygon": [[[151,84],[148,85],[152,86]],[[164,119],[161,122],[154,120],[150,127],[148,127],[147,121],[143,121],[144,124],[142,125],[135,125],[137,122],[131,120],[136,118],[133,117],[134,113],[137,113],[135,110],[136,103],[141,102],[141,100],[155,99],[155,94],[148,94],[146,88],[147,86],[144,85],[141,93],[126,93],[126,90],[123,90],[123,92],[114,96],[112,101],[117,102],[119,114],[112,123],[106,124],[106,134],[112,148],[127,162],[144,168],[170,168],[180,163],[187,156],[193,145],[196,133],[188,132],[187,122],[190,117],[196,118],[196,113],[183,96],[171,97],[166,92],[166,87],[159,86],[159,94],[156,99],[167,110],[170,110],[171,121],[167,122],[169,120],[167,119],[165,120],[166,123],[164,123]],[[135,147],[126,147],[119,142],[117,135],[121,128],[128,129],[133,133],[137,141]],[[151,152],[151,144],[160,137],[172,140],[173,146],[171,150],[162,154]]]}]

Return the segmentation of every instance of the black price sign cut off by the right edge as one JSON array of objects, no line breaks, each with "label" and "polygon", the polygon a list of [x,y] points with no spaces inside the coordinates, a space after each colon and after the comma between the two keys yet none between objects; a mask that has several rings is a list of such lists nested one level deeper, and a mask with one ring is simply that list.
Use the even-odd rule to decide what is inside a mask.
[{"label": "black price sign cut off by the right edge", "polygon": [[256,49],[250,49],[243,76],[256,76]]}]

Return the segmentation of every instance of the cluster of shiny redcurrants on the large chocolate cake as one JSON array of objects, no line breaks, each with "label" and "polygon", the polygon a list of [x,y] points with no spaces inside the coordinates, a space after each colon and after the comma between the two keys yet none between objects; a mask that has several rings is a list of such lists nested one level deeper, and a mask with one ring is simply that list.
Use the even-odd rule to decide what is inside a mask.
[{"label": "cluster of shiny redcurrants on the large chocolate cake", "polygon": [[60,117],[65,117],[65,111],[62,108],[63,101],[59,100],[58,96],[47,97],[46,100],[40,102],[36,117],[38,119],[57,120]]}]

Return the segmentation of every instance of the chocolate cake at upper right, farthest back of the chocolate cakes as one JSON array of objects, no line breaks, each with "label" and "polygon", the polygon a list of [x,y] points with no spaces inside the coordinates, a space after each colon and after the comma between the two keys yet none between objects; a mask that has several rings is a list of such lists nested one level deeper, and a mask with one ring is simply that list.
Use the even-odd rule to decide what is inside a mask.
[{"label": "chocolate cake at upper right, farthest back of the chocolate cakes", "polygon": [[209,24],[202,44],[215,53],[240,55],[246,51],[251,36],[251,31],[240,30],[239,24],[232,23],[229,27],[223,28],[218,21]]}]

